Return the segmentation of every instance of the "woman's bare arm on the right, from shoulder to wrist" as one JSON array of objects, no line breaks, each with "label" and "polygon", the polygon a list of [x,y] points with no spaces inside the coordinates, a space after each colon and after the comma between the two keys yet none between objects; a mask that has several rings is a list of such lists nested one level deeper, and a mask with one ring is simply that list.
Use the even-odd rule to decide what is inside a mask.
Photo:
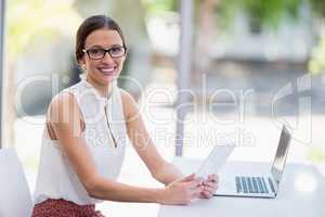
[{"label": "woman's bare arm on the right, from shoulder to wrist", "polygon": [[174,165],[166,162],[157,152],[134,99],[123,90],[121,90],[121,98],[128,136],[152,176],[165,184],[181,178],[183,176],[181,171]]}]

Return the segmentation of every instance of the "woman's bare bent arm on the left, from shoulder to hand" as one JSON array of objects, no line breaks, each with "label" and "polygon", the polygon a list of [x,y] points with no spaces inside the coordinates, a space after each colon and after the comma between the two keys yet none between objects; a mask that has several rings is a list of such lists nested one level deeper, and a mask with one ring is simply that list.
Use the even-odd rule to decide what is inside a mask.
[{"label": "woman's bare bent arm on the left, from shoulder to hand", "polygon": [[131,187],[102,177],[81,137],[82,116],[72,94],[62,93],[53,99],[48,122],[79,180],[92,197],[121,202],[187,204],[202,191],[194,177],[178,180],[162,189]]}]

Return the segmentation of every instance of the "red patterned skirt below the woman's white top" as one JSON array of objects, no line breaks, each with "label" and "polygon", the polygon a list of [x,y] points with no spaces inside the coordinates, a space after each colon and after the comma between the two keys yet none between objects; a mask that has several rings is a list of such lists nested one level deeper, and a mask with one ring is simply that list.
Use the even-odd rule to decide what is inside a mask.
[{"label": "red patterned skirt below the woman's white top", "polygon": [[78,205],[63,199],[36,204],[31,217],[105,217],[94,205]]}]

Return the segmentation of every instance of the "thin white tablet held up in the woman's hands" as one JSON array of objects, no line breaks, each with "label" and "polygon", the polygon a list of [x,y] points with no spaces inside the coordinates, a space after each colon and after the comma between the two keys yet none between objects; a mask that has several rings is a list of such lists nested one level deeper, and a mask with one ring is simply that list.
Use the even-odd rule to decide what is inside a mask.
[{"label": "thin white tablet held up in the woman's hands", "polygon": [[197,170],[196,176],[206,179],[210,174],[218,174],[234,148],[233,143],[217,144]]}]

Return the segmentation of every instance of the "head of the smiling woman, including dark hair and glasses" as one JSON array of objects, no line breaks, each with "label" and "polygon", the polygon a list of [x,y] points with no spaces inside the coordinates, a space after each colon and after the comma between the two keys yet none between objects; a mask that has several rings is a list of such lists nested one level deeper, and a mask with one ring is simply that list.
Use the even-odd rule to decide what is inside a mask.
[{"label": "head of the smiling woman, including dark hair and glasses", "polygon": [[[126,60],[126,50],[121,29],[110,18],[94,16],[78,29],[77,61],[88,73],[87,77],[99,86],[107,86],[118,77]],[[105,88],[102,93],[105,94]]]}]

